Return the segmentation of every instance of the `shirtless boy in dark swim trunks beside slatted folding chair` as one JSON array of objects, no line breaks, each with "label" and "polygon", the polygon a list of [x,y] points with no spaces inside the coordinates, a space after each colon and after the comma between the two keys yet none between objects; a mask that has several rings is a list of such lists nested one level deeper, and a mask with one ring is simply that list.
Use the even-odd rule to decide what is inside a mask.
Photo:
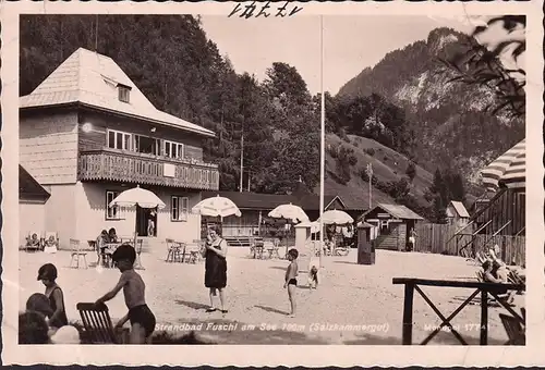
[{"label": "shirtless boy in dark swim trunks beside slatted folding chair", "polygon": [[129,312],[117,323],[116,328],[123,326],[130,320],[130,343],[150,344],[156,320],[154,313],[146,305],[146,285],[142,276],[134,271],[136,251],[130,244],[123,244],[116,249],[111,258],[117,263],[119,271],[121,271],[121,276],[113,289],[105,294],[95,304],[102,305],[105,301],[112,299],[122,288]]}]

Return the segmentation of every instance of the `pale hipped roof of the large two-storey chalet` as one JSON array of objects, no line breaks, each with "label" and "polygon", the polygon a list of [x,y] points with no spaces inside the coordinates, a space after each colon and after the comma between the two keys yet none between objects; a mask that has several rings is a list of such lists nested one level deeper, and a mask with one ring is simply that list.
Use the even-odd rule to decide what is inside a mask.
[{"label": "pale hipped roof of the large two-storey chalet", "polygon": [[[119,100],[118,84],[131,88],[130,102]],[[66,103],[82,103],[215,136],[207,128],[156,109],[111,58],[83,48],[74,51],[34,91],[20,98],[20,107],[23,109]]]}]

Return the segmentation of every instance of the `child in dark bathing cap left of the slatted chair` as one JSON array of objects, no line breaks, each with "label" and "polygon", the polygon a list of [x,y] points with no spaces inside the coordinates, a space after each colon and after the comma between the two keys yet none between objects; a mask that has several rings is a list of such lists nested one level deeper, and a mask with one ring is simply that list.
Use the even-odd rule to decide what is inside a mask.
[{"label": "child in dark bathing cap left of the slatted chair", "polygon": [[45,295],[49,299],[49,307],[52,311],[48,325],[53,329],[68,325],[64,295],[61,287],[56,283],[57,278],[57,268],[52,263],[46,263],[38,270],[38,280],[41,280],[41,283],[46,286]]}]

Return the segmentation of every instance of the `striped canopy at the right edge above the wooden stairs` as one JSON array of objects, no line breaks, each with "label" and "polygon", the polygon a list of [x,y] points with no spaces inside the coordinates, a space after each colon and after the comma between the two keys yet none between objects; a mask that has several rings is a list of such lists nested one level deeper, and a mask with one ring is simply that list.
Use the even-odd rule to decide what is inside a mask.
[{"label": "striped canopy at the right edge above the wooden stairs", "polygon": [[525,139],[488,164],[481,175],[488,189],[497,190],[500,185],[509,188],[526,187],[526,143]]}]

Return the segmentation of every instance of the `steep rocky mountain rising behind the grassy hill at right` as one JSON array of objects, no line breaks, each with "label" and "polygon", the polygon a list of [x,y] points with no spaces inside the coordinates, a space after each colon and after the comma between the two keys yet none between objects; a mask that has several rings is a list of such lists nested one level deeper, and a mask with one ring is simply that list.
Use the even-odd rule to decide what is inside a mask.
[{"label": "steep rocky mountain rising behind the grassy hill at right", "polygon": [[524,122],[487,109],[497,103],[485,86],[449,83],[455,76],[440,59],[469,48],[469,36],[437,28],[426,40],[408,45],[364,69],[341,87],[336,99],[378,95],[402,109],[404,128],[414,134],[405,155],[429,172],[459,171],[469,190],[480,193],[487,163],[524,138]]}]

